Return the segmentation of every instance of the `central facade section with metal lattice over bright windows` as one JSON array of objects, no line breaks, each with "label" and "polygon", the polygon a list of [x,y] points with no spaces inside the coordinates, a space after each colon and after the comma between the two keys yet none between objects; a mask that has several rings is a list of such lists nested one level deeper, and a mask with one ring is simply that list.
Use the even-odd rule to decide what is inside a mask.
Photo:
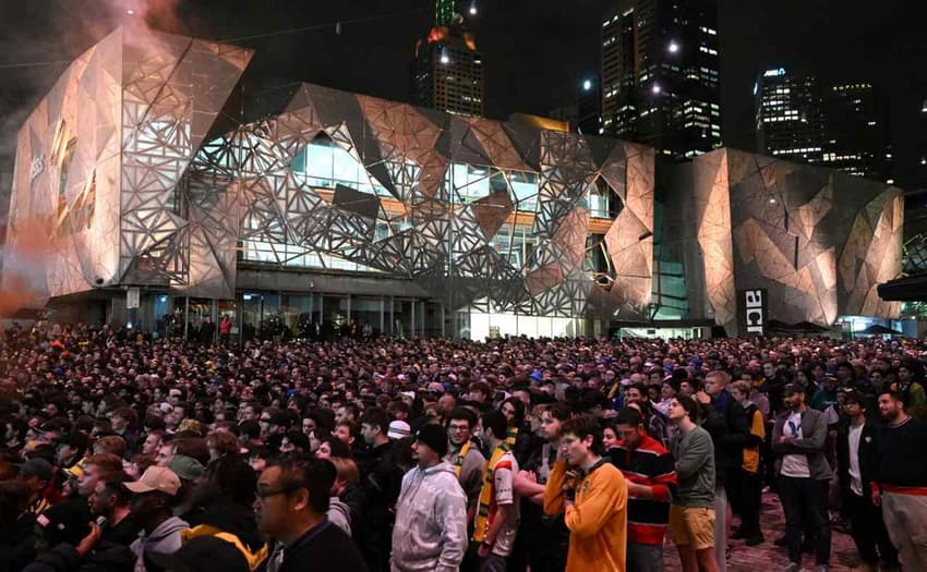
[{"label": "central facade section with metal lattice over bright windows", "polygon": [[[293,162],[320,137],[350,155],[385,193],[314,186]],[[590,144],[577,134],[303,84],[284,113],[242,125],[194,159],[184,187],[191,219],[206,197],[214,215],[191,227],[191,241],[224,246],[203,248],[207,259],[191,266],[227,270],[190,289],[230,294],[234,253],[228,245],[237,236],[270,245],[272,264],[328,255],[410,278],[454,308],[482,302],[486,309],[533,315],[618,308],[639,315],[650,301],[652,161],[652,150],[623,142]],[[450,177],[454,166],[480,166],[492,192],[469,197]],[[534,194],[519,196],[513,187],[520,172],[537,174]],[[625,208],[597,242],[588,240],[583,205],[598,179]],[[499,244],[501,231],[516,224],[530,226],[534,240],[525,259],[507,256]],[[377,234],[378,228],[386,232]],[[597,287],[586,261],[605,245],[611,279]]]}]

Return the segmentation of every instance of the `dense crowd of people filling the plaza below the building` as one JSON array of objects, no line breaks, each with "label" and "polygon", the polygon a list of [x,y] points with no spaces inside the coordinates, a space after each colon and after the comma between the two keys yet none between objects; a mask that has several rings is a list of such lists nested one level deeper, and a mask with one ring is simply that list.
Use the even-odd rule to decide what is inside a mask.
[{"label": "dense crowd of people filling the plaza below the building", "polygon": [[0,572],[927,570],[922,340],[210,338],[5,332]]}]

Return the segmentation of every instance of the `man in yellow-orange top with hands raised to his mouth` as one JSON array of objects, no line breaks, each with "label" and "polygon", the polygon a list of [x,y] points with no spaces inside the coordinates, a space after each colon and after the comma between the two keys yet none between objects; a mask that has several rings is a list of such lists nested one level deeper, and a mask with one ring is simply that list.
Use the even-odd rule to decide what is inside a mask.
[{"label": "man in yellow-orange top with hands raised to his mouth", "polygon": [[602,459],[602,429],[590,416],[566,421],[557,462],[544,489],[544,511],[564,513],[569,528],[566,572],[624,572],[625,477]]}]

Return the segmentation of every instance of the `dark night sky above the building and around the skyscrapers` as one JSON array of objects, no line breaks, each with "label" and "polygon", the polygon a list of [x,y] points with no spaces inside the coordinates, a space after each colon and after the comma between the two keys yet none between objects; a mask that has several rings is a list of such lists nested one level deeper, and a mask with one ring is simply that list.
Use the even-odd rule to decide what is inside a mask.
[{"label": "dark night sky above the building and around the skyscrapers", "polygon": [[[9,186],[16,130],[65,68],[9,65],[74,58],[129,17],[129,1],[143,0],[0,0],[0,184]],[[324,25],[232,42],[257,50],[255,72],[397,100],[408,99],[412,50],[434,19],[432,0],[158,1],[153,27],[209,39]],[[598,68],[600,19],[614,0],[477,2],[468,20],[483,52],[486,114],[545,114],[573,102]],[[466,13],[469,0],[459,5]],[[891,99],[896,181],[913,180],[906,165],[927,137],[917,122],[927,97],[927,2],[719,0],[719,13],[725,145],[755,148],[751,89],[760,70],[869,81]]]}]

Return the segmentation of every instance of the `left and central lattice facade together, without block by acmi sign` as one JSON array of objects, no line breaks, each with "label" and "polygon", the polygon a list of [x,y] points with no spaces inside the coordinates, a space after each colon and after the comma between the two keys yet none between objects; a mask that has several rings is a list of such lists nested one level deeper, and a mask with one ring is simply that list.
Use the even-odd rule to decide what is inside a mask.
[{"label": "left and central lattice facade together, without block by acmi sign", "polygon": [[[79,58],[20,132],[7,268],[45,299],[112,285],[231,299],[242,251],[260,244],[270,266],[336,257],[450,308],[646,315],[652,149],[310,84],[216,136],[251,56],[119,29]],[[364,184],[320,185],[294,167],[320,137]],[[485,177],[460,181],[461,168]],[[621,200],[617,218],[590,217],[593,187]],[[53,264],[16,254],[34,226]],[[525,256],[511,247],[523,229]]]}]

